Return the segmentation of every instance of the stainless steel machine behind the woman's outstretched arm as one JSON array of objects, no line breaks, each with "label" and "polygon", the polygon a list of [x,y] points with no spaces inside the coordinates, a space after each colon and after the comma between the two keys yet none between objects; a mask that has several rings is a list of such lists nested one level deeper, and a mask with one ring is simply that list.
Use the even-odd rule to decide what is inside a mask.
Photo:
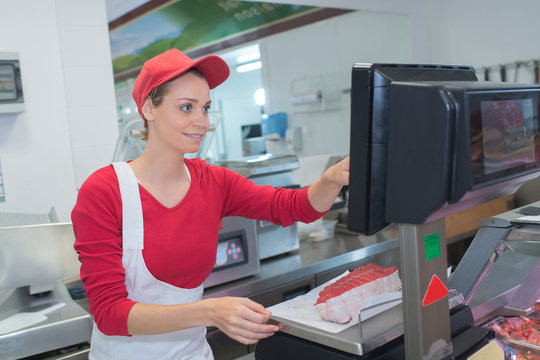
[{"label": "stainless steel machine behind the woman's outstretched arm", "polygon": [[[226,167],[258,185],[299,188],[294,184],[294,169],[300,167],[296,155],[264,154],[245,157],[238,161],[221,161]],[[269,221],[251,220],[256,227],[259,258],[261,260],[299,248],[298,225],[283,227]]]}]

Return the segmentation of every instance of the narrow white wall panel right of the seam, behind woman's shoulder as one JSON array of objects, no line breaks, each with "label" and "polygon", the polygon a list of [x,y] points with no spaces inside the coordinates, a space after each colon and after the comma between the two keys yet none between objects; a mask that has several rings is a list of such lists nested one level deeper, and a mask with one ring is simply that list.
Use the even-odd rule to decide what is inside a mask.
[{"label": "narrow white wall panel right of the seam, behind woman's shoulder", "polygon": [[105,2],[57,0],[57,14],[79,188],[92,172],[111,162],[118,136]]}]

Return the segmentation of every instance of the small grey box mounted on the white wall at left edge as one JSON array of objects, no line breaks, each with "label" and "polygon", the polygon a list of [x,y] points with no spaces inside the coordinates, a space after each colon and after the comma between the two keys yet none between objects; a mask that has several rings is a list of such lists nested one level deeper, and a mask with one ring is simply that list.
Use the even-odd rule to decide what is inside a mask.
[{"label": "small grey box mounted on the white wall at left edge", "polygon": [[24,111],[19,55],[0,51],[0,113]]}]

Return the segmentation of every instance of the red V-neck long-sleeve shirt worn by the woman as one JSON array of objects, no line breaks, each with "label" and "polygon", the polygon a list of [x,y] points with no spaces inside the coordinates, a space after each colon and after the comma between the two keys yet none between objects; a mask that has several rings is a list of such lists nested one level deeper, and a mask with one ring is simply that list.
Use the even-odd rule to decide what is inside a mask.
[{"label": "red V-neck long-sleeve shirt worn by the woman", "polygon": [[[307,188],[258,186],[225,168],[185,159],[191,184],[184,199],[167,208],[139,185],[143,218],[143,257],[152,275],[182,288],[195,288],[216,261],[219,223],[244,216],[288,226],[322,216],[310,204]],[[128,299],[122,266],[122,199],[112,165],[82,185],[71,214],[75,250],[90,313],[107,335],[128,335]],[[276,239],[279,241],[279,239]]]}]

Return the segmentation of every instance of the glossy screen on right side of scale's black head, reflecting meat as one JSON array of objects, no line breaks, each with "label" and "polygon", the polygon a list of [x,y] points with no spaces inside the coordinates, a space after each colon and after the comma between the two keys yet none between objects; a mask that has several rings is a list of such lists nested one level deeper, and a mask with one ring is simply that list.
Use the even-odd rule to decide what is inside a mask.
[{"label": "glossy screen on right side of scale's black head, reflecting meat", "polygon": [[540,165],[538,94],[471,101],[471,156],[474,183]]}]

